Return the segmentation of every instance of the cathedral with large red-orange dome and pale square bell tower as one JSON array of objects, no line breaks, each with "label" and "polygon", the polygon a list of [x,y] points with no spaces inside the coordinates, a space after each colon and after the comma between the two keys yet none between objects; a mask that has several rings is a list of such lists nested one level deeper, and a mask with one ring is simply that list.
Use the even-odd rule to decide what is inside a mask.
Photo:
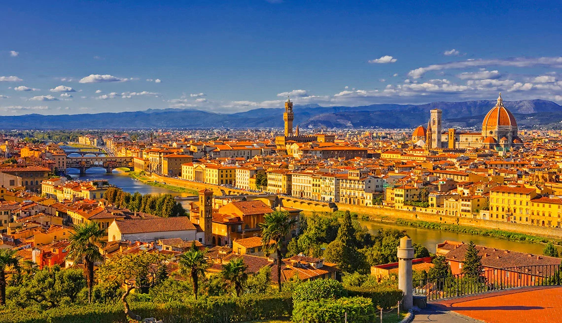
[{"label": "cathedral with large red-orange dome and pale square bell tower", "polygon": [[412,134],[412,143],[436,149],[482,148],[496,151],[519,149],[523,140],[518,137],[517,122],[513,114],[504,106],[501,93],[494,106],[482,121],[482,131],[478,133],[460,132],[454,128],[442,130],[442,111],[433,109],[427,128],[420,125]]}]

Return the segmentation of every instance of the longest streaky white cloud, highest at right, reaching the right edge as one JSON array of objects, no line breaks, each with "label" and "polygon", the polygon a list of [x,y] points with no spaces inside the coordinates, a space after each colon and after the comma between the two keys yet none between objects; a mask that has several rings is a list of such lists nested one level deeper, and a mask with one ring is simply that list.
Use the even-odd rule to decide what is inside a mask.
[{"label": "longest streaky white cloud, highest at right, reaching the right edge", "polygon": [[419,67],[411,70],[408,75],[414,79],[421,78],[429,71],[441,71],[448,69],[464,69],[466,67],[486,67],[490,65],[497,66],[513,66],[513,67],[562,67],[562,56],[559,57],[514,57],[506,59],[490,59],[490,60],[466,60],[460,62],[449,62],[443,64],[433,64],[426,67]]}]

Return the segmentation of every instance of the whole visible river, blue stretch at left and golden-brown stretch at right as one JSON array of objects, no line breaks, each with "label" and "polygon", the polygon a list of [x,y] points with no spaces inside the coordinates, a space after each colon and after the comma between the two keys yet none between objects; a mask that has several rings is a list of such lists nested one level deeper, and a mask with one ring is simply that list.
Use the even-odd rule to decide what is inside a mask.
[{"label": "whole visible river, blue stretch at left and golden-brown stretch at right", "polygon": [[[89,169],[86,171],[85,175],[80,176],[78,170],[69,169],[68,173],[70,176],[72,176],[72,178],[80,180],[104,179],[107,180],[110,184],[115,185],[128,193],[139,192],[141,194],[173,194],[181,196],[191,195],[188,193],[177,193],[173,190],[144,184],[141,181],[130,178],[126,175],[125,172],[121,172],[118,170],[115,170],[112,174],[106,174],[104,169]],[[188,203],[188,201],[183,201],[182,204],[185,207]],[[413,228],[410,226],[364,220],[360,220],[359,222],[361,223],[361,225],[366,226],[369,229],[370,233],[373,235],[377,234],[379,229],[398,229],[401,231],[406,231],[406,233],[410,236],[410,238],[412,238],[414,243],[423,244],[429,250],[429,252],[433,253],[436,251],[437,243],[441,243],[445,240],[464,241],[466,243],[472,240],[475,244],[486,245],[486,247],[508,249],[512,251],[527,252],[533,254],[542,254],[542,249],[544,248],[544,245],[542,244],[505,240],[493,238],[490,236],[455,233],[450,231],[424,228]]]}]

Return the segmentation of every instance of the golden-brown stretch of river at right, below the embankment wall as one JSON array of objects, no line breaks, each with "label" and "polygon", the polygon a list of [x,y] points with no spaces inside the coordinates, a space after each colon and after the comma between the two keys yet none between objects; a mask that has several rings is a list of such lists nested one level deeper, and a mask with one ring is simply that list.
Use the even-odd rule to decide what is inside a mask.
[{"label": "golden-brown stretch of river at right, below the embankment wall", "polygon": [[545,247],[538,243],[518,242],[505,239],[492,238],[490,236],[472,235],[465,233],[455,233],[451,231],[432,230],[424,228],[413,228],[410,226],[387,224],[380,222],[371,222],[359,220],[362,226],[366,226],[371,234],[377,234],[379,229],[398,229],[406,231],[412,238],[412,242],[421,243],[434,253],[436,251],[437,243],[442,243],[445,240],[464,241],[466,243],[472,240],[475,244],[485,245],[486,247],[507,249],[511,251],[527,252],[533,254],[542,254],[542,249]]}]

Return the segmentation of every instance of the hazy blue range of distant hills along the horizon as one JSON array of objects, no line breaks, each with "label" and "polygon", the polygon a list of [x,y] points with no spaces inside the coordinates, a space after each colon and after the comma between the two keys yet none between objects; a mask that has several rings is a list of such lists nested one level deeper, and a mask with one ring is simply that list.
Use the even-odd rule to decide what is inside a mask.
[{"label": "hazy blue range of distant hills along the horizon", "polygon": [[[478,126],[496,101],[372,104],[359,107],[294,107],[294,125],[305,128],[414,128],[427,124],[429,110],[443,110],[445,126]],[[518,124],[556,125],[562,107],[551,101],[504,101]],[[258,108],[238,113],[201,110],[146,110],[81,115],[0,116],[0,129],[154,129],[154,128],[282,128],[284,108]],[[450,123],[450,125],[447,124]]]}]

